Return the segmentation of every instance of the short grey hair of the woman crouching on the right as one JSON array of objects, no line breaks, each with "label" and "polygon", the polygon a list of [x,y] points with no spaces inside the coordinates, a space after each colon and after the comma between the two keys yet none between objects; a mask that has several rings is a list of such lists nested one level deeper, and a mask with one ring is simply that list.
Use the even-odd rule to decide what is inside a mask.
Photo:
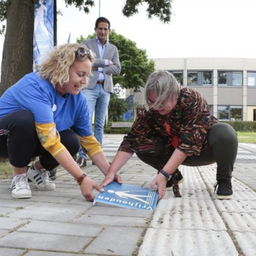
[{"label": "short grey hair of the woman crouching on the right", "polygon": [[176,78],[168,71],[160,70],[151,73],[147,78],[144,97],[146,108],[149,107],[149,97],[152,92],[157,94],[153,108],[158,108],[163,101],[177,99],[180,96],[180,86]]}]

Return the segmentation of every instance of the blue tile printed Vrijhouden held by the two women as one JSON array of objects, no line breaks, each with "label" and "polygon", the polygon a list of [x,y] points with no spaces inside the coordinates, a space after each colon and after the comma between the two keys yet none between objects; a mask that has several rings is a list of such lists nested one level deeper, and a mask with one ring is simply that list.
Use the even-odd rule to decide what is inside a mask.
[{"label": "blue tile printed Vrijhouden held by the two women", "polygon": [[104,187],[93,201],[94,204],[110,204],[130,209],[155,210],[158,202],[156,189],[112,182]]}]

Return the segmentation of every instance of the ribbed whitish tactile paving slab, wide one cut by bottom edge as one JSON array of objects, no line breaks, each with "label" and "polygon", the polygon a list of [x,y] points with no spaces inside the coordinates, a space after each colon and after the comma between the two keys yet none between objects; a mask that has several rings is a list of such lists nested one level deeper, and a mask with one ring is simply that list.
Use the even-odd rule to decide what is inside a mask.
[{"label": "ribbed whitish tactile paving slab, wide one cut by bottom edge", "polygon": [[149,228],[138,255],[238,256],[239,253],[227,231]]}]

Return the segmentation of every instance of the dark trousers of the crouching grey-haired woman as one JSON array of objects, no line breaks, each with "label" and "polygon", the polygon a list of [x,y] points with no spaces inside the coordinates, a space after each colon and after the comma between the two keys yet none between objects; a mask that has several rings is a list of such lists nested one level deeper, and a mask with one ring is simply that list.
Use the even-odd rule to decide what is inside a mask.
[{"label": "dark trousers of the crouching grey-haired woman", "polygon": [[[209,147],[199,156],[188,156],[183,165],[201,166],[217,163],[217,181],[231,180],[234,161],[237,157],[238,139],[233,128],[227,123],[216,123],[210,126],[207,137]],[[166,142],[156,143],[156,153],[136,153],[145,163],[161,170],[172,156],[175,148],[166,147]]]}]

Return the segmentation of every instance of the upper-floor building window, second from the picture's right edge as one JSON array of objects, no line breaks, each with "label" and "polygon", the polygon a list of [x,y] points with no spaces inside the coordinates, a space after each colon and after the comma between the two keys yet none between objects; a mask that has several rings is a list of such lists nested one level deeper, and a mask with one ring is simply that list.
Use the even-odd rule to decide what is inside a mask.
[{"label": "upper-floor building window, second from the picture's right edge", "polygon": [[218,72],[218,84],[219,86],[242,86],[243,74],[241,71],[219,71]]}]

